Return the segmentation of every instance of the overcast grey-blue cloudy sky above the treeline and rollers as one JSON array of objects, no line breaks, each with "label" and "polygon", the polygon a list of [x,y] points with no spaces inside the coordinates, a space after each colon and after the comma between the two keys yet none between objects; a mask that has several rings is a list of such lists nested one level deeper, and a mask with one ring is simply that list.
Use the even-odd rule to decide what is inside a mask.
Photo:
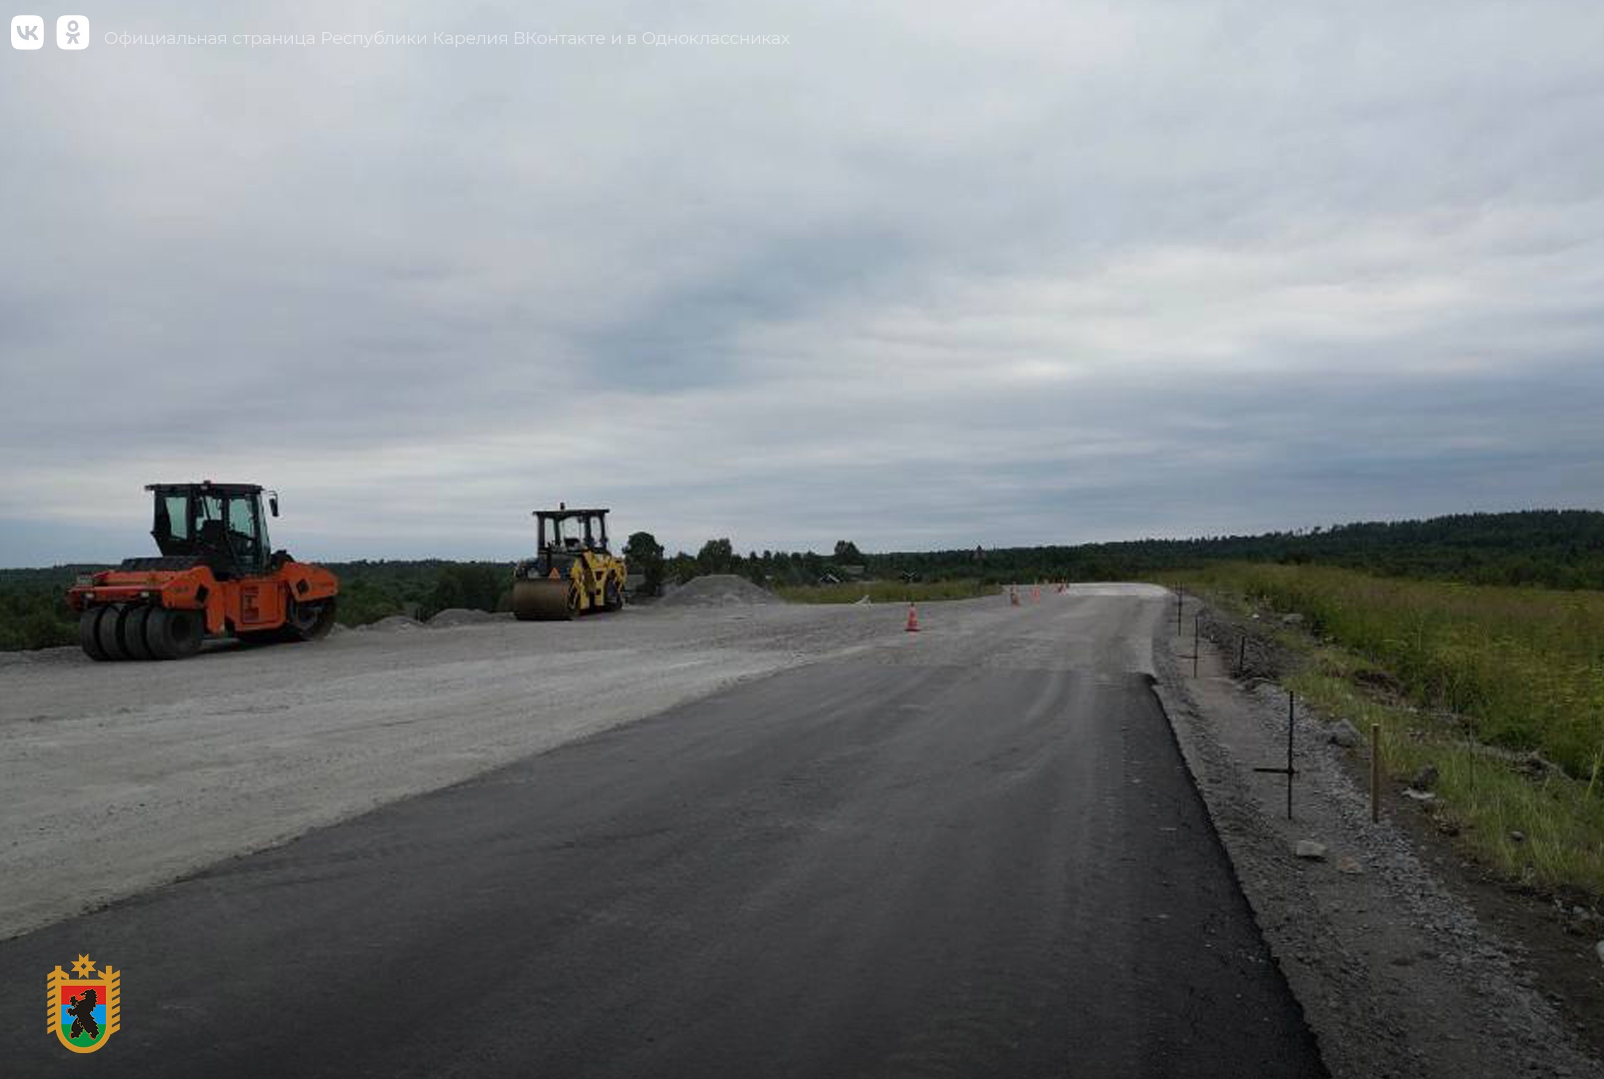
[{"label": "overcast grey-blue cloudy sky above the treeline and rollers", "polygon": [[0,564],[146,553],[191,478],[306,558],[1604,508],[1596,0],[37,10]]}]

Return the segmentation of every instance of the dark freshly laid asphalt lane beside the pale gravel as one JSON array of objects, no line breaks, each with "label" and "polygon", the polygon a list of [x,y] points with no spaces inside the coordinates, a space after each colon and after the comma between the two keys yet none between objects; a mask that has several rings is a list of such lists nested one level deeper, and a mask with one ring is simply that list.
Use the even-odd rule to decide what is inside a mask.
[{"label": "dark freshly laid asphalt lane beside the pale gravel", "polygon": [[[1323,1074],[1147,677],[1070,649],[1071,603],[1015,625],[781,670],[5,941],[5,1074]],[[82,952],[124,972],[93,1055],[38,1007]]]}]

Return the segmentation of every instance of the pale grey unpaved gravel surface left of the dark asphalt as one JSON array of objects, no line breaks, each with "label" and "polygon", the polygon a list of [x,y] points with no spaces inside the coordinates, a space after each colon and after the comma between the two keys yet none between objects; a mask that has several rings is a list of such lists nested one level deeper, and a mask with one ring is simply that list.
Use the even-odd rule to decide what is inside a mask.
[{"label": "pale grey unpaved gravel surface left of the dark asphalt", "polygon": [[[1044,608],[998,596],[929,608],[917,636],[901,632],[901,606],[638,608],[573,624],[414,624],[180,664],[5,654],[0,938],[823,657],[893,659],[917,640],[921,659],[1030,664],[1052,648],[1147,669],[1132,588],[1156,596],[1105,585],[1073,612],[1060,604],[1073,630],[1062,645],[1031,638]],[[970,654],[975,641],[985,648]]]}]

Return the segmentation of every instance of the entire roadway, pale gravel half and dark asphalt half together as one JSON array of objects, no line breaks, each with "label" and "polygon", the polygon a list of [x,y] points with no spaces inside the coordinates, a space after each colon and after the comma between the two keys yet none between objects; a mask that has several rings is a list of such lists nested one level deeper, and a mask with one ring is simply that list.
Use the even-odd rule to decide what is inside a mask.
[{"label": "entire roadway, pale gravel half and dark asphalt half together", "polygon": [[[1088,588],[930,604],[919,635],[900,608],[778,608],[11,667],[32,696],[6,709],[40,718],[5,729],[47,760],[11,731],[77,731],[115,778],[133,762],[95,733],[136,717],[115,752],[160,810],[122,834],[165,829],[176,861],[260,845],[244,818],[289,790],[277,835],[516,760],[0,944],[0,1039],[38,1031],[0,1052],[22,1074],[1323,1074],[1148,688],[1161,612]],[[581,709],[614,661],[630,689]],[[220,757],[234,782],[181,779]],[[16,798],[66,829],[47,802]],[[106,891],[136,888],[87,835],[124,872]],[[125,994],[90,1060],[40,1029],[35,984],[85,951]]]}]

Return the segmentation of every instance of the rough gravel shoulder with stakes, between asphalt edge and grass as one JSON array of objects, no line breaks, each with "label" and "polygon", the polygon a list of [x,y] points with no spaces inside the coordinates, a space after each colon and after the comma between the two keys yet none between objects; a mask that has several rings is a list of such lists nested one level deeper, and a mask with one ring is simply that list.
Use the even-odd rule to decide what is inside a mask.
[{"label": "rough gravel shoulder with stakes, between asphalt edge and grass", "polygon": [[[1517,949],[1444,888],[1386,814],[1370,821],[1368,792],[1322,717],[1299,704],[1286,821],[1285,776],[1253,771],[1286,762],[1285,693],[1225,677],[1208,641],[1200,677],[1190,665],[1161,619],[1153,693],[1335,1079],[1604,1074]],[[1296,853],[1304,840],[1317,856]]]}]

